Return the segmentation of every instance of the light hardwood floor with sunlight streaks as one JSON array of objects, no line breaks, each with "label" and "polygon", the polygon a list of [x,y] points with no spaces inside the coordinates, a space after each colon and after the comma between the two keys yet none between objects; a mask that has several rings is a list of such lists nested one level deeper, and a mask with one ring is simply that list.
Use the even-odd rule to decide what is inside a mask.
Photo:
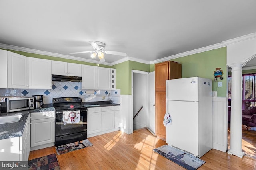
[{"label": "light hardwood floor with sunlight streaks", "polygon": [[[165,145],[147,129],[139,129],[128,135],[115,131],[88,138],[92,147],[57,155],[61,170],[85,169],[139,169],[181,170],[174,162],[157,154],[152,149]],[[56,153],[55,147],[30,152],[29,160]],[[206,163],[198,170],[253,170],[255,159],[238,158],[212,149],[201,157]]]}]

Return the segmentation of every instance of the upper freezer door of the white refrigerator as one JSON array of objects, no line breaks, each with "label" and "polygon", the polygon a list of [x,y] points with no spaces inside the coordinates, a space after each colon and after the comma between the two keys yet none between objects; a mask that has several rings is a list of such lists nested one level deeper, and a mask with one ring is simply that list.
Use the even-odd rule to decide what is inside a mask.
[{"label": "upper freezer door of the white refrigerator", "polygon": [[166,80],[166,100],[198,101],[198,77]]}]

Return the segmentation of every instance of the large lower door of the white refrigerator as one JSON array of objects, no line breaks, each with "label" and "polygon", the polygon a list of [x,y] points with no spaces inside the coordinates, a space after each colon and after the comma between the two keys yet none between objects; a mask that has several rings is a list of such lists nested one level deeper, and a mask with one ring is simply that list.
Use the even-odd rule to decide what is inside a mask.
[{"label": "large lower door of the white refrigerator", "polygon": [[166,126],[166,143],[198,156],[198,102],[167,101],[172,124]]}]

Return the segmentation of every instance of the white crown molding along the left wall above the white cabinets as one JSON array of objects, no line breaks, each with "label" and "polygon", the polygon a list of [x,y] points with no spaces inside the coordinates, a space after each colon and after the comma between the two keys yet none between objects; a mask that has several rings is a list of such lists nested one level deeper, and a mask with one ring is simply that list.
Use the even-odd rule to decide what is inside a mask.
[{"label": "white crown molding along the left wall above the white cabinets", "polygon": [[74,57],[74,56],[70,56],[70,55],[63,55],[63,54],[41,51],[41,50],[36,50],[36,49],[29,49],[29,48],[14,46],[14,45],[7,45],[7,44],[0,43],[0,48],[8,49],[8,50],[22,51],[22,52],[26,52],[26,53],[48,55],[51,57],[59,57],[59,58],[64,58],[64,59],[76,60],[76,61],[84,61],[84,62],[89,62],[89,63],[96,63],[96,64],[98,63],[98,64],[102,64],[102,65],[111,66],[111,63],[108,63],[108,62],[102,63],[100,61],[95,61],[95,60],[91,60],[91,59],[84,59],[81,57]]}]

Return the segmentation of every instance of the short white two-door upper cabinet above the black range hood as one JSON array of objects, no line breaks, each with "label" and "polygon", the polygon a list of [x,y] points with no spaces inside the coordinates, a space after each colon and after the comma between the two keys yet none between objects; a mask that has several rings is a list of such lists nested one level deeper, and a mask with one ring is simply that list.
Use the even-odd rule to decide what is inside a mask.
[{"label": "short white two-door upper cabinet above the black range hood", "polygon": [[63,76],[82,76],[82,65],[63,61],[52,61],[52,74]]}]

